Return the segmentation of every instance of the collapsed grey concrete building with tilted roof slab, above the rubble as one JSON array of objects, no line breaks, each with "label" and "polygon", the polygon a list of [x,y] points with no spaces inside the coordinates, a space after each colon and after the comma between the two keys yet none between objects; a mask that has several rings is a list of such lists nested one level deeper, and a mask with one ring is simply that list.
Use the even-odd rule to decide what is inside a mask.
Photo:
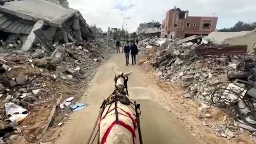
[{"label": "collapsed grey concrete building with tilted roof slab, above the rubble", "polygon": [[69,8],[68,2],[63,0],[2,0],[0,32],[2,52],[20,48],[30,51],[37,37],[51,51],[50,43],[92,41],[94,38],[81,13]]}]

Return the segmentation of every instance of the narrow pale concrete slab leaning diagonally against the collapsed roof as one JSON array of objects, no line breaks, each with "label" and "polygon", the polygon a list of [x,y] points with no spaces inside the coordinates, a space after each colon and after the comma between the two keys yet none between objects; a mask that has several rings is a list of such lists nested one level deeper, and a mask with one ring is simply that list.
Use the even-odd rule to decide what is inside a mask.
[{"label": "narrow pale concrete slab leaning diagonally against the collapsed roof", "polygon": [[25,41],[25,43],[22,46],[22,50],[23,51],[29,51],[32,48],[33,42],[36,39],[36,36],[35,36],[33,31],[41,29],[43,27],[43,25],[44,25],[44,21],[43,20],[39,20],[39,21],[37,21],[35,23],[32,31],[30,32],[30,34],[28,36],[28,39]]}]

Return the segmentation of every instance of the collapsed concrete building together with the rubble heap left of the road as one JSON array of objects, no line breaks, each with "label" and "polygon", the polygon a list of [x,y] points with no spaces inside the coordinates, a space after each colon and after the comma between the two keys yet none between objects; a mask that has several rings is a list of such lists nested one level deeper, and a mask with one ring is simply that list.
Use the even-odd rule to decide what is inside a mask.
[{"label": "collapsed concrete building together with the rubble heap left of the road", "polygon": [[64,124],[71,113],[60,109],[60,102],[72,95],[69,104],[75,104],[115,49],[114,43],[94,38],[79,11],[60,2],[0,1],[2,144],[53,141],[47,130]]}]

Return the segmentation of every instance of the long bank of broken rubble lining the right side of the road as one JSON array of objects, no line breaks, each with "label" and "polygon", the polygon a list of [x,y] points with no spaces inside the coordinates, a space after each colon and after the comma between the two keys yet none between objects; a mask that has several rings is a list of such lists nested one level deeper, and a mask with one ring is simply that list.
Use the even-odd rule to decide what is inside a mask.
[{"label": "long bank of broken rubble lining the right side of the road", "polygon": [[[184,99],[201,103],[197,118],[217,136],[239,141],[247,131],[251,140],[256,140],[256,58],[247,54],[244,47],[238,47],[237,54],[224,51],[226,54],[222,55],[223,51],[213,50],[216,46],[230,48],[198,36],[183,40],[148,38],[139,42],[140,64],[151,63],[161,80],[183,87]],[[209,110],[213,106],[226,113],[223,121],[215,125],[207,120],[215,118]]]}]

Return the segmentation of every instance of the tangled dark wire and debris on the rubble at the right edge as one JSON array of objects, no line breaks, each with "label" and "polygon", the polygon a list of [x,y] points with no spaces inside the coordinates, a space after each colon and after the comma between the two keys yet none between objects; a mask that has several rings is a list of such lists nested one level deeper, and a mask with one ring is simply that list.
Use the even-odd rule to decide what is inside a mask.
[{"label": "tangled dark wire and debris on the rubble at the right edge", "polygon": [[[240,69],[243,73],[227,72],[227,77],[232,84],[228,87],[217,87],[211,96],[214,106],[229,108],[237,120],[243,121],[249,126],[256,128],[256,97],[246,92],[256,88],[256,61],[253,58],[237,59],[240,62]],[[238,66],[239,66],[238,65]]]}]

